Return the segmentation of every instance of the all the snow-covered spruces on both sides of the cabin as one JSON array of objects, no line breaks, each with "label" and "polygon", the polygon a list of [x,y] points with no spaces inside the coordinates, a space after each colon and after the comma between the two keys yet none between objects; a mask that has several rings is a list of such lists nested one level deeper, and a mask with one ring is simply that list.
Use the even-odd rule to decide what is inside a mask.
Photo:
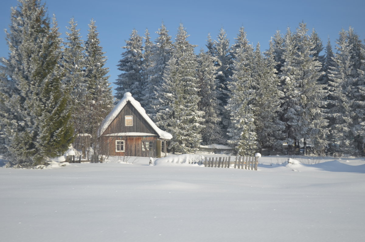
[{"label": "all the snow-covered spruces on both sides of the cabin", "polygon": [[[9,56],[0,59],[0,154],[12,166],[41,165],[89,134],[97,155],[97,128],[113,96],[95,21],[86,41],[74,19],[61,39],[41,0],[18,1],[7,31]],[[131,92],[172,133],[171,150],[218,143],[251,155],[287,143],[359,155],[364,44],[350,27],[339,32],[333,52],[329,40],[323,47],[316,31],[308,31],[304,22],[277,31],[261,52],[243,27],[233,45],[222,28],[196,54],[183,24],[174,41],[164,23],[154,41],[148,30],[144,37],[133,30],[118,63],[115,97]]]}]

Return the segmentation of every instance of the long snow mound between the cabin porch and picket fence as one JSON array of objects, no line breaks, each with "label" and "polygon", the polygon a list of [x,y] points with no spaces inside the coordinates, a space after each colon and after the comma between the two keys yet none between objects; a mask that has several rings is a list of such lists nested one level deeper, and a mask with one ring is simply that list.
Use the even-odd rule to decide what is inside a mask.
[{"label": "long snow mound between the cabin porch and picket fence", "polygon": [[203,155],[174,155],[163,158],[158,158],[154,161],[155,166],[191,166],[199,165],[200,161],[204,159]]}]

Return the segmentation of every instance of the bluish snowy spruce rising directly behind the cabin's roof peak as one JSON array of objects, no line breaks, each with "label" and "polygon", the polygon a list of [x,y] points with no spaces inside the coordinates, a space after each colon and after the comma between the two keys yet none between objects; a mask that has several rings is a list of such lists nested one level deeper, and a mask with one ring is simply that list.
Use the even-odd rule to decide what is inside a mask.
[{"label": "bluish snowy spruce rising directly behind the cabin's roof peak", "polygon": [[116,79],[116,84],[118,87],[115,88],[116,94],[115,98],[120,100],[123,98],[125,92],[130,92],[134,99],[137,101],[142,101],[142,90],[141,87],[141,66],[142,66],[142,37],[138,35],[137,30],[132,30],[130,38],[126,40],[126,49],[122,53],[122,59],[119,60],[118,70],[122,71]]}]

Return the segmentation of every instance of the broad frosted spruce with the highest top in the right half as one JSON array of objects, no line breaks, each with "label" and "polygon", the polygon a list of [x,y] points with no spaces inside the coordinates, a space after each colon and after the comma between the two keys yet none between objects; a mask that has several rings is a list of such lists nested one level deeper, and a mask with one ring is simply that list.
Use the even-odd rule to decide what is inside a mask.
[{"label": "broad frosted spruce with the highest top in the right half", "polygon": [[289,145],[300,147],[303,139],[304,150],[307,141],[316,151],[323,152],[328,133],[324,86],[319,83],[323,75],[322,64],[314,56],[315,45],[307,35],[305,23],[300,23],[295,34],[287,34],[285,63],[280,78],[283,84],[284,103],[282,118],[286,123],[286,135]]}]

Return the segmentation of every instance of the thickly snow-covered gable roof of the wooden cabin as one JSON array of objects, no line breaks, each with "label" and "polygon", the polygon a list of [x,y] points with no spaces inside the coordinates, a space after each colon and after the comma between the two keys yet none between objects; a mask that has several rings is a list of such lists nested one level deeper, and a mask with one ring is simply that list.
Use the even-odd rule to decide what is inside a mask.
[{"label": "thickly snow-covered gable roof of the wooden cabin", "polygon": [[146,120],[146,122],[153,128],[153,130],[160,136],[161,139],[170,140],[172,139],[172,135],[168,132],[162,131],[160,128],[155,125],[155,123],[151,120],[150,117],[146,114],[145,109],[141,106],[141,104],[136,101],[130,92],[124,93],[124,96],[118,104],[114,107],[113,110],[108,114],[108,116],[101,122],[100,128],[98,130],[98,137],[102,135],[105,130],[108,128],[108,126],[111,124],[111,122],[118,116],[120,111],[122,111],[123,107],[126,106],[126,104],[130,102],[132,106],[138,111],[139,114]]}]

